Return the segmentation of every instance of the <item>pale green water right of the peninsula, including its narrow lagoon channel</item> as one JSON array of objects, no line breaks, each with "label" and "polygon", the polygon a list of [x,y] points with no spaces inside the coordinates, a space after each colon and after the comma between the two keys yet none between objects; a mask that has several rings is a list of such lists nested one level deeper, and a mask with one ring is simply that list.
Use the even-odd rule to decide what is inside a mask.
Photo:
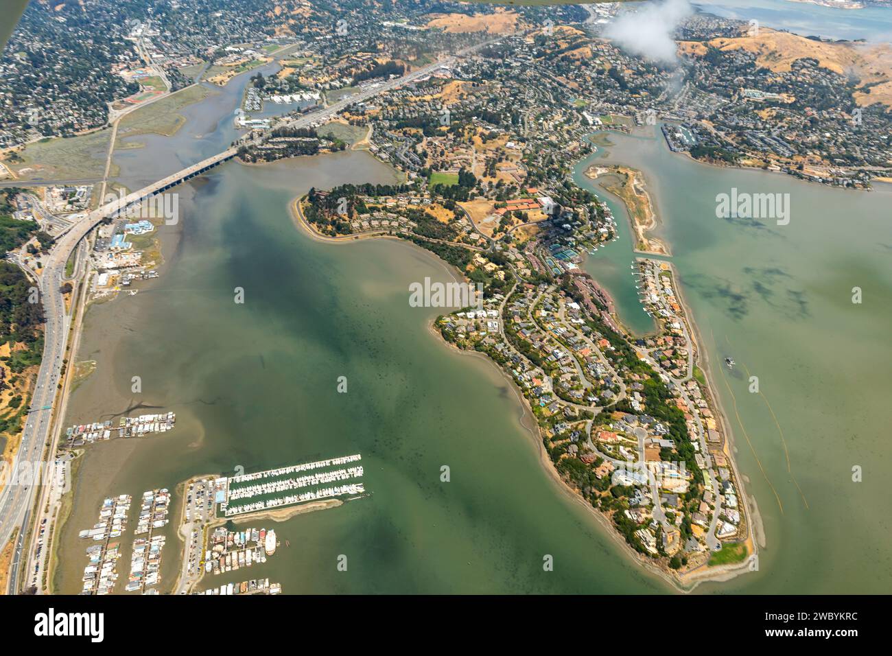
[{"label": "pale green water right of the peninsula, including its narrow lagoon channel", "polygon": [[[645,331],[626,214],[582,175],[593,162],[642,170],[662,220],[656,234],[673,252],[747,492],[756,495],[764,521],[760,571],[699,590],[888,592],[889,187],[833,189],[693,162],[656,135],[608,138],[613,145],[581,162],[574,177],[607,198],[620,239],[591,255],[585,268],[615,297],[621,319]],[[732,187],[789,194],[789,225],[716,218],[715,196]],[[852,303],[856,286],[861,304]],[[726,356],[737,361],[734,370],[723,366]],[[750,376],[762,395],[749,392]],[[862,482],[852,479],[855,466],[863,469]]]}]

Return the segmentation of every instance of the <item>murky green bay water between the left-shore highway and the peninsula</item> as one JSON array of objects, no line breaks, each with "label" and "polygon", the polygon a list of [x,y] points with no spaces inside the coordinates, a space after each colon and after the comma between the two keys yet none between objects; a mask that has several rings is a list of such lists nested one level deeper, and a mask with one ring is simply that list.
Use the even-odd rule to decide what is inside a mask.
[{"label": "murky green bay water between the left-shore highway and the peninsula", "polygon": [[[436,309],[409,307],[410,282],[453,279],[442,262],[395,240],[320,243],[288,212],[311,186],[392,180],[369,154],[346,153],[230,162],[179,187],[182,219],[160,230],[161,278],[87,312],[78,358],[97,369],[68,417],[114,419],[141,404],[131,414],[176,411],[177,426],[87,447],[58,590],[80,589],[88,543],[77,533],[95,523],[105,495],[134,496],[120,591],[145,490],[349,453],[362,453],[370,497],[248,524],[276,527],[275,556],[204,585],[268,577],[293,594],[669,590],[551,477],[508,380],[442,344],[429,329]],[[131,392],[134,376],[141,394]],[[339,376],[347,394],[336,391]],[[176,576],[180,504],[178,495],[165,530],[162,591]],[[336,569],[342,554],[346,572]]]}]

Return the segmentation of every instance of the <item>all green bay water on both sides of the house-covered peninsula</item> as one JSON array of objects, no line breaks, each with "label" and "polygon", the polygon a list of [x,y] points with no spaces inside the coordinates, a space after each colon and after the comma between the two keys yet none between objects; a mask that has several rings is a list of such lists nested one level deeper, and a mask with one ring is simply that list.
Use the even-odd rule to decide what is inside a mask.
[{"label": "all green bay water on both sides of the house-covered peninsula", "polygon": [[[705,167],[653,138],[611,138],[618,142],[611,156],[645,170],[655,195],[768,536],[760,572],[698,590],[888,589],[888,511],[878,501],[889,464],[883,327],[892,236],[884,197]],[[428,330],[436,311],[409,307],[409,282],[451,279],[441,262],[392,240],[319,243],[287,211],[310,186],[392,175],[353,153],[229,163],[180,187],[184,219],[161,228],[161,278],[87,313],[78,358],[98,368],[73,395],[69,415],[69,423],[112,419],[141,403],[139,411],[176,411],[178,425],[164,436],[88,447],[57,589],[79,590],[87,543],[77,532],[95,523],[105,495],[132,494],[136,504],[145,490],[174,489],[196,474],[359,452],[371,497],[276,524],[283,546],[272,559],[205,585],[269,577],[286,593],[669,590],[549,477],[508,381],[489,362],[442,345]],[[790,225],[715,219],[714,195],[731,186],[789,191]],[[615,278],[599,280],[626,320],[637,303],[632,241],[621,208],[614,212],[620,240],[586,266],[597,275],[611,261]],[[863,278],[865,301],[850,307],[853,277]],[[233,302],[236,286],[244,305]],[[737,370],[715,366],[725,353]],[[763,398],[747,393],[744,367],[772,403],[808,508]],[[142,394],[130,392],[133,376]],[[336,393],[338,376],[348,378],[348,394]],[[854,464],[864,468],[863,483],[851,482]],[[450,483],[440,482],[442,465]],[[135,520],[136,508],[130,531]],[[174,524],[162,589],[176,574]],[[122,544],[126,581],[129,536]],[[341,554],[347,572],[335,568]],[[554,572],[542,571],[544,554],[555,557]]]}]

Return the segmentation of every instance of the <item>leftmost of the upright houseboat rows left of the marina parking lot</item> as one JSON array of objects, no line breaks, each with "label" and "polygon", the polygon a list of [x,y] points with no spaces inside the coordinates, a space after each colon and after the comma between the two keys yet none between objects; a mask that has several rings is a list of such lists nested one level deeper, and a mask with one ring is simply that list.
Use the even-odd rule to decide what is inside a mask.
[{"label": "leftmost of the upright houseboat rows left of the marina parking lot", "polygon": [[127,527],[127,515],[130,511],[131,497],[120,494],[103,501],[99,511],[99,521],[93,528],[81,531],[78,536],[91,538],[96,543],[87,547],[90,559],[84,568],[84,582],[81,594],[109,594],[118,580],[115,565],[120,558],[120,544],[111,540],[123,535]]}]

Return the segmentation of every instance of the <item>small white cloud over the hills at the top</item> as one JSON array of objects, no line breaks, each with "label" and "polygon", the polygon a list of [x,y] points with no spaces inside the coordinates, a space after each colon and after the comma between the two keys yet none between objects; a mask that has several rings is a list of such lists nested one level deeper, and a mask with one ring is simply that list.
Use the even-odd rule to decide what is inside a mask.
[{"label": "small white cloud over the hills at the top", "polygon": [[621,13],[607,25],[604,36],[632,54],[658,62],[675,62],[673,30],[693,10],[688,0],[648,3],[638,11]]}]

